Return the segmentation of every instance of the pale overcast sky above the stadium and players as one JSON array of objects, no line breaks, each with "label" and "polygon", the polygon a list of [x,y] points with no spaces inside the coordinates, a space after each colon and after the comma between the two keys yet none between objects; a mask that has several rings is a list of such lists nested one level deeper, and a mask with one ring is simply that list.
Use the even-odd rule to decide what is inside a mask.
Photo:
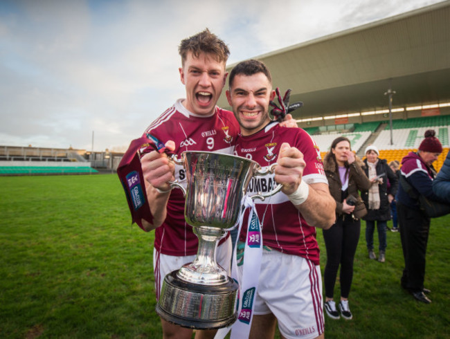
[{"label": "pale overcast sky above the stadium and players", "polygon": [[184,98],[178,45],[206,27],[231,64],[438,2],[0,0],[0,145],[126,149]]}]

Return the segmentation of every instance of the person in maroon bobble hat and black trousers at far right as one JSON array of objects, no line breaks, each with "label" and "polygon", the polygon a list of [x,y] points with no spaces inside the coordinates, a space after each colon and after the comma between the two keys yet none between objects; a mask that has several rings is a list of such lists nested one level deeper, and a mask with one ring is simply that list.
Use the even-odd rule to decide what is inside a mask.
[{"label": "person in maroon bobble hat and black trousers at far right", "polygon": [[410,152],[402,159],[400,170],[400,183],[397,191],[397,214],[400,224],[400,237],[405,267],[401,279],[402,287],[415,297],[416,300],[426,304],[431,303],[430,291],[424,288],[426,243],[428,241],[430,218],[420,210],[417,199],[410,196],[402,180],[405,180],[415,194],[422,194],[434,201],[442,201],[433,193],[433,179],[435,170],[433,162],[442,153],[442,145],[435,137],[435,131],[429,129],[416,152]]}]

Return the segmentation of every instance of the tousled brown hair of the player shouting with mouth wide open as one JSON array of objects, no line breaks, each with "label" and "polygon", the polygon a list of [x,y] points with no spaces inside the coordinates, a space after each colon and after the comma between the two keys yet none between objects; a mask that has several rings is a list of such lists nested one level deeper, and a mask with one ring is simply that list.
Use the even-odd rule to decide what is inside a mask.
[{"label": "tousled brown hair of the player shouting with mouth wide open", "polygon": [[217,35],[210,33],[208,28],[196,35],[192,35],[192,37],[181,40],[178,51],[179,55],[181,55],[183,66],[189,52],[192,52],[192,55],[195,57],[199,57],[201,52],[215,55],[217,61],[225,63],[228,60],[228,55],[230,55],[225,42],[219,39]]}]

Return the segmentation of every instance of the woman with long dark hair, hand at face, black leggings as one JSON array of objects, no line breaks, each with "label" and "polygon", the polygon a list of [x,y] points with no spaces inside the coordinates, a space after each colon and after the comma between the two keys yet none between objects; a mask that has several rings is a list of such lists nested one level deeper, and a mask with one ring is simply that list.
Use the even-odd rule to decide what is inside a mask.
[{"label": "woman with long dark hair, hand at face, black leggings", "polygon": [[371,183],[352,152],[350,140],[343,136],[334,139],[330,152],[325,155],[323,166],[330,193],[336,201],[336,223],[328,230],[323,230],[327,248],[324,273],[325,312],[332,319],[340,318],[333,294],[337,271],[341,266],[339,311],[342,318],[350,320],[352,313],[348,305],[348,295],[352,285],[354,253],[361,230],[360,219],[366,214],[366,207],[358,191],[368,190]]}]

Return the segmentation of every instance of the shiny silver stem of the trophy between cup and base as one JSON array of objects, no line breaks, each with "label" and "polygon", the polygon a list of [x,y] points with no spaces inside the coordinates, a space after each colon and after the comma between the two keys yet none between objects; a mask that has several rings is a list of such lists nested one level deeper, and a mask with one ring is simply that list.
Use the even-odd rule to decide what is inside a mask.
[{"label": "shiny silver stem of the trophy between cup and base", "polygon": [[217,243],[224,236],[225,230],[200,226],[194,227],[193,231],[199,238],[197,257],[193,262],[181,267],[177,277],[192,284],[210,286],[226,284],[228,275],[216,262]]}]

